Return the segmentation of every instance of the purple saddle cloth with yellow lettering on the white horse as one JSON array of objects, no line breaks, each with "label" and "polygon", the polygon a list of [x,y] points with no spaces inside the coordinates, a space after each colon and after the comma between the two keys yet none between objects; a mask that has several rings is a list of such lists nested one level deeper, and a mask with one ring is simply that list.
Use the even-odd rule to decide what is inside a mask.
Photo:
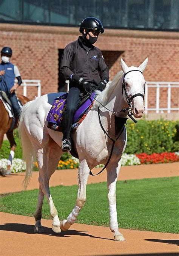
[{"label": "purple saddle cloth with yellow lettering on the white horse", "polygon": [[[56,130],[58,132],[62,132],[62,119],[63,119],[63,112],[66,108],[66,99],[68,93],[60,93],[60,96],[54,99],[53,105],[48,113],[47,116],[47,127]],[[80,123],[84,120],[87,113],[91,109],[94,101],[96,93],[92,93],[91,96],[86,94],[79,103],[77,111],[73,118],[73,126],[72,130],[77,129]]]}]

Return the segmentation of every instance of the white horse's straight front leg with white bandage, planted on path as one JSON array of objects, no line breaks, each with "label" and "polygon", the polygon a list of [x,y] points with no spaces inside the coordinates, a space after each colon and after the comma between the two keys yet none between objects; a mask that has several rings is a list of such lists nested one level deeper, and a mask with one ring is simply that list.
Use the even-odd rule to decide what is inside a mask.
[{"label": "white horse's straight front leg with white bandage, planted on path", "polygon": [[106,168],[108,181],[108,200],[110,209],[110,229],[114,233],[115,241],[125,241],[125,238],[119,232],[116,210],[116,182],[120,171],[120,166],[121,163],[119,161],[117,167],[115,165],[108,165]]}]

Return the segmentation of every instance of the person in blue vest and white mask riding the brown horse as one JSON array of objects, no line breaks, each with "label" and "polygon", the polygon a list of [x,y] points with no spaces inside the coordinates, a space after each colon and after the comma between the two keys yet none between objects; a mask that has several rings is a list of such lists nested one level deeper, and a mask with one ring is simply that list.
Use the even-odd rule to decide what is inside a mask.
[{"label": "person in blue vest and white mask riding the brown horse", "polygon": [[[15,118],[20,117],[20,107],[17,101],[15,91],[21,85],[22,79],[20,77],[19,69],[17,66],[10,62],[12,50],[9,47],[3,47],[1,50],[0,63],[0,91],[5,91],[9,100],[11,101]],[[15,77],[17,83],[14,84]]]}]

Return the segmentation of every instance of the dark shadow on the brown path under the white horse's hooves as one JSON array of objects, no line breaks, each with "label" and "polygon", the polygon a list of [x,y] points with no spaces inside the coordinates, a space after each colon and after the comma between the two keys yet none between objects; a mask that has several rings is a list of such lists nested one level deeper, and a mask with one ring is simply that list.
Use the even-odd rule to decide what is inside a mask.
[{"label": "dark shadow on the brown path under the white horse's hooves", "polygon": [[[34,226],[33,225],[27,225],[27,224],[22,224],[22,223],[5,223],[4,225],[0,225],[0,230],[20,232],[20,233],[26,233],[26,234],[34,234]],[[61,233],[55,233],[52,231],[51,228],[47,228],[44,226],[43,226],[43,230],[44,230],[44,233],[41,233],[41,234],[46,235],[46,236],[59,236],[59,237],[88,236],[91,238],[99,238],[99,239],[114,241],[113,239],[104,238],[104,237],[96,237],[96,236],[92,236],[90,234],[86,234],[89,231],[77,231],[77,230],[69,229],[67,231],[62,231]]]}]

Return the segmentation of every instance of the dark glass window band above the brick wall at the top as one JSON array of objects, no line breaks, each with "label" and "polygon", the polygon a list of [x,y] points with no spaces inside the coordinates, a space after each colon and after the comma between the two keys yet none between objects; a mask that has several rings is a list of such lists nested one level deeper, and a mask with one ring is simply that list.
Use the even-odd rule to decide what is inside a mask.
[{"label": "dark glass window band above the brick wall at the top", "polygon": [[85,17],[105,28],[179,29],[179,0],[0,0],[0,22],[79,26]]}]

